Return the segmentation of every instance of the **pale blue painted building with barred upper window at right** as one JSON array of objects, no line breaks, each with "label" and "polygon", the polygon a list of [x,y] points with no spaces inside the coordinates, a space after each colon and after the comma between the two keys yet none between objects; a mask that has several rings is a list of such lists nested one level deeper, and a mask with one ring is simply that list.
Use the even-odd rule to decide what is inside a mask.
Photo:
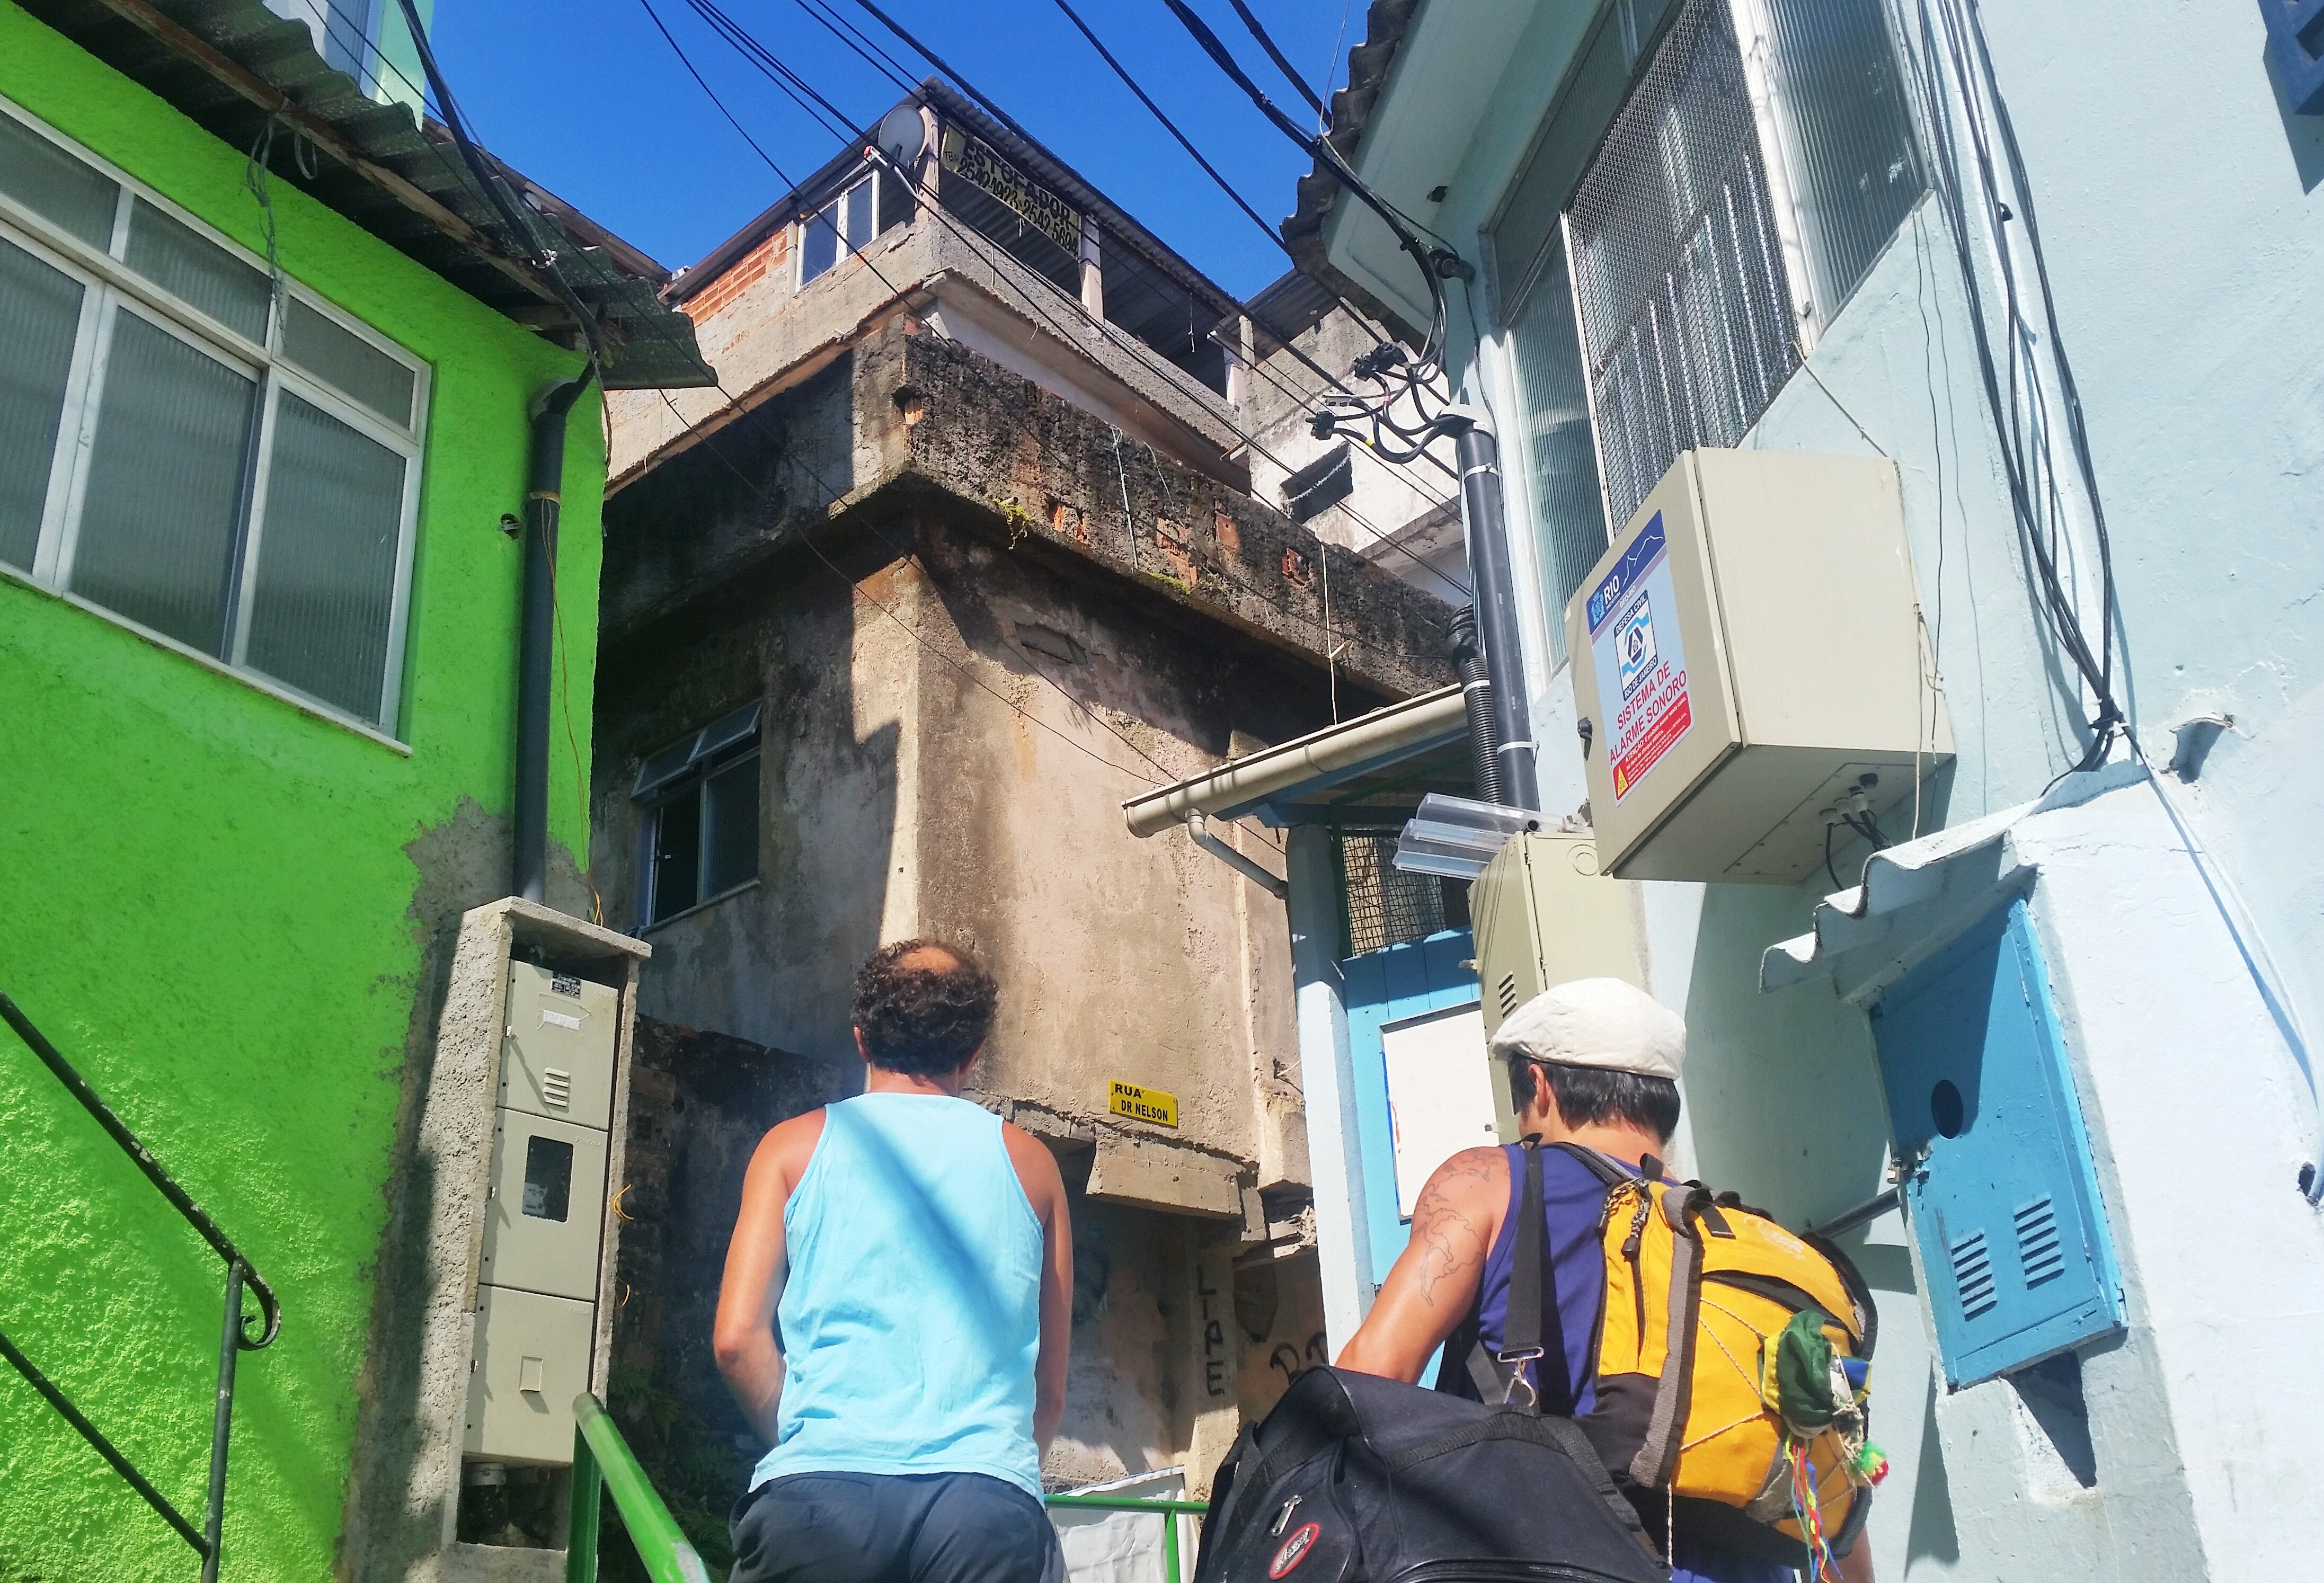
[{"label": "pale blue painted building with barred upper window at right", "polygon": [[[1680,509],[1657,490],[1683,453],[1815,488],[1868,458],[1894,490],[1908,576],[1878,611],[1806,488],[1771,516],[1799,553],[1720,570],[1796,600],[1796,697],[1862,674],[1838,625],[1906,656],[1885,804],[1852,823],[1808,795],[1829,858],[1773,883],[1592,881],[1692,1027],[1683,1174],[1794,1227],[1857,1220],[1882,1578],[2298,1576],[2324,1541],[2301,1034],[2324,1007],[2324,93],[2312,37],[2259,12],[1383,2],[1336,102],[1357,174],[1476,270],[1448,365],[1508,472],[1525,642],[1494,660],[1525,679],[1543,804],[1587,800],[1611,869],[1652,835],[1615,835],[1597,781],[1608,546]],[[1429,323],[1329,172],[1287,235],[1367,311]],[[1738,665],[1720,642],[1690,653]],[[2110,644],[2103,669],[2075,642]],[[1669,774],[1694,830],[1743,823]],[[1652,760],[1629,786],[1664,795]],[[1304,986],[1318,1141],[1315,1095],[1369,1079],[1348,1032],[1318,1074],[1355,993]],[[1369,1148],[1350,1125],[1313,1151],[1334,1344],[1371,1299],[1369,1227],[1394,1227]]]}]

